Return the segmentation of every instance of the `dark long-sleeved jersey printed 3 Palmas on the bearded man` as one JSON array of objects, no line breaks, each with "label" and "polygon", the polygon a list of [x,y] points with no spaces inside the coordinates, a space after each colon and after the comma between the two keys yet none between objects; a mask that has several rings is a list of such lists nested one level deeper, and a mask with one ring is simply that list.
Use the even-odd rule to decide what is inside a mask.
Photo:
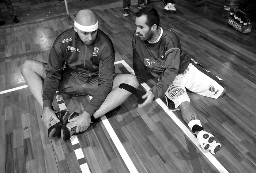
[{"label": "dark long-sleeved jersey printed 3 Palmas on the bearded man", "polygon": [[157,41],[140,41],[136,32],[133,34],[133,69],[139,82],[145,82],[152,75],[159,78],[151,88],[154,99],[161,97],[172,84],[177,74],[188,67],[190,58],[187,51],[181,49],[178,36],[171,30],[161,29]]}]

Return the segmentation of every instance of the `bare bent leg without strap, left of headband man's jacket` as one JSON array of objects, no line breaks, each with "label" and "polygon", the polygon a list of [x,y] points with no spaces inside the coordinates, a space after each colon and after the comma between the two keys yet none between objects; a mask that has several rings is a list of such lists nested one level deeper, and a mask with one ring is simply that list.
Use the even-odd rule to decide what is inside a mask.
[{"label": "bare bent leg without strap, left of headband man's jacket", "polygon": [[21,66],[21,73],[27,86],[41,107],[43,107],[42,87],[45,79],[45,68],[44,63],[30,59],[26,60]]}]

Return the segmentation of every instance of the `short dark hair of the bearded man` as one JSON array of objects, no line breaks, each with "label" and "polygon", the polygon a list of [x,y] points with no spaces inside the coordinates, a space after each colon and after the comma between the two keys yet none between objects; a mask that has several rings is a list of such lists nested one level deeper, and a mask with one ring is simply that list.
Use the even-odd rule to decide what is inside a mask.
[{"label": "short dark hair of the bearded man", "polygon": [[143,16],[143,15],[145,15],[147,17],[147,21],[146,21],[147,26],[151,27],[154,24],[156,24],[157,28],[158,28],[159,23],[160,23],[160,18],[159,18],[159,14],[155,8],[148,6],[148,7],[140,9],[136,13],[137,17]]}]

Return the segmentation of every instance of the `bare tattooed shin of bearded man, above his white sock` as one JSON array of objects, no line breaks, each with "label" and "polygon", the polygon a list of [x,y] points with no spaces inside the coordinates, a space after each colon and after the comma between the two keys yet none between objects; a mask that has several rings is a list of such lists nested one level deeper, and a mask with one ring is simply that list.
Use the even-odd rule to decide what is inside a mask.
[{"label": "bare tattooed shin of bearded man, above his white sock", "polygon": [[195,110],[192,108],[191,103],[185,101],[179,105],[181,116],[183,120],[188,124],[191,120],[199,119]]}]

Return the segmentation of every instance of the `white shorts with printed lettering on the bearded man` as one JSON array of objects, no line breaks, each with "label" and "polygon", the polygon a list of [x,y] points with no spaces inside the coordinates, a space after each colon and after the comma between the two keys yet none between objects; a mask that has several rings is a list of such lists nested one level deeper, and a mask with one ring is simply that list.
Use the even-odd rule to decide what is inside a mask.
[{"label": "white shorts with printed lettering on the bearded man", "polygon": [[224,82],[208,70],[192,62],[187,69],[178,74],[165,93],[169,109],[177,108],[181,103],[188,101],[186,88],[202,96],[218,99],[224,90]]}]

